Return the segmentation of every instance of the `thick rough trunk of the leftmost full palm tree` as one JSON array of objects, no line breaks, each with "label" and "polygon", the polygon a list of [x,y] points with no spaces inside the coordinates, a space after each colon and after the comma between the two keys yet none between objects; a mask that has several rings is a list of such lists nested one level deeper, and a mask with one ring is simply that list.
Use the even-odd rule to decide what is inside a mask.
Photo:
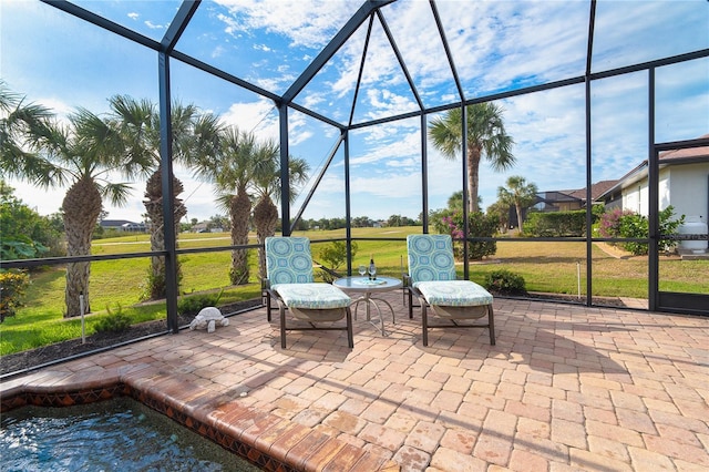
[{"label": "thick rough trunk of the leftmost full palm tree", "polygon": [[[81,178],[69,188],[62,202],[68,256],[91,255],[91,236],[101,214],[101,194],[92,178]],[[91,312],[90,276],[91,263],[70,263],[66,265],[65,318]],[[81,312],[81,295],[84,297],[83,314]]]}]

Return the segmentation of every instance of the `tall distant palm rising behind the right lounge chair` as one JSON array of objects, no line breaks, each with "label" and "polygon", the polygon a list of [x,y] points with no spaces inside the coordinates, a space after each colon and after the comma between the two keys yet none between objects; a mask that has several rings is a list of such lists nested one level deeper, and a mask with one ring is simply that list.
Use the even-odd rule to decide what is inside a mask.
[{"label": "tall distant palm rising behind the right lounge chair", "polygon": [[[514,165],[515,158],[511,148],[514,141],[505,132],[502,120],[502,109],[494,103],[476,103],[466,106],[467,111],[467,209],[471,213],[480,211],[479,170],[483,157],[490,162],[495,172],[501,172]],[[434,119],[429,125],[429,136],[433,145],[443,153],[444,157],[456,160],[462,145],[462,111],[449,110],[442,117]]]}]

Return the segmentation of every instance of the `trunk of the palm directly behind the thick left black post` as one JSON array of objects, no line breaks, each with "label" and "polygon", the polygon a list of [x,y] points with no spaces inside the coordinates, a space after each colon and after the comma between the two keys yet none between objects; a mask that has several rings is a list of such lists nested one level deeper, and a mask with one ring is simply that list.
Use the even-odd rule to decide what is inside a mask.
[{"label": "trunk of the palm directly behind the thick left black post", "polygon": [[[175,211],[175,238],[179,233],[179,220],[187,214],[187,209],[177,198],[183,192],[182,182],[173,176],[173,199]],[[150,176],[145,185],[145,199],[143,201],[147,217],[151,220],[151,250],[165,250],[165,219],[163,218],[163,187],[162,187],[162,166],[158,166],[153,175]],[[179,281],[181,268],[176,261],[177,280]],[[151,300],[165,298],[167,287],[165,284],[165,258],[162,256],[151,257],[151,271],[148,274],[148,294]]]}]

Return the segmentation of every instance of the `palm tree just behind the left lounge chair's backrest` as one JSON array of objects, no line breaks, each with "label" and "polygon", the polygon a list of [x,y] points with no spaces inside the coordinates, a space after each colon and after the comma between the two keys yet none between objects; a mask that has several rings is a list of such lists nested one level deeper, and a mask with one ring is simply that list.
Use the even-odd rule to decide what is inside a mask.
[{"label": "palm tree just behind the left lounge chair's backrest", "polygon": [[[254,171],[254,185],[256,188],[256,206],[254,207],[254,226],[256,238],[261,246],[268,236],[276,234],[278,225],[278,208],[274,203],[280,199],[280,152],[275,141],[266,141],[257,146],[256,167]],[[299,157],[288,160],[289,195],[291,202],[296,198],[296,187],[308,178],[308,163]],[[282,222],[284,226],[288,222]],[[266,277],[266,254],[258,252],[258,275]]]}]

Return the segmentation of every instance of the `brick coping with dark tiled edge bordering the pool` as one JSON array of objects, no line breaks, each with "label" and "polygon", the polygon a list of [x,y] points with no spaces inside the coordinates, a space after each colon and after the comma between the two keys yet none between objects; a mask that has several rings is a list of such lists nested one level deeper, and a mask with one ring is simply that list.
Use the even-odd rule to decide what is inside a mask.
[{"label": "brick coping with dark tiled edge bordering the pool", "polygon": [[131,397],[267,471],[400,471],[362,448],[147,365],[44,370],[0,383],[0,412]]}]

